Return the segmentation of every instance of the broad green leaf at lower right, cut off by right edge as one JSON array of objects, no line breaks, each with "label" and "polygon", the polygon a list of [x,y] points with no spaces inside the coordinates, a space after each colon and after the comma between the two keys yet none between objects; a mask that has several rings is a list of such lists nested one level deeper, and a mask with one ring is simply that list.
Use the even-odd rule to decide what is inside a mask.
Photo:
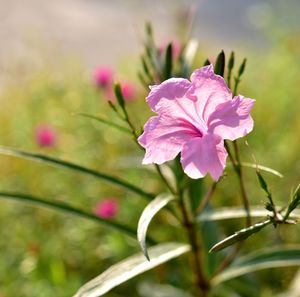
[{"label": "broad green leaf at lower right, cut off by right edge", "polygon": [[255,251],[233,262],[231,266],[212,279],[212,285],[218,285],[227,280],[257,270],[299,265],[299,245],[266,248]]}]

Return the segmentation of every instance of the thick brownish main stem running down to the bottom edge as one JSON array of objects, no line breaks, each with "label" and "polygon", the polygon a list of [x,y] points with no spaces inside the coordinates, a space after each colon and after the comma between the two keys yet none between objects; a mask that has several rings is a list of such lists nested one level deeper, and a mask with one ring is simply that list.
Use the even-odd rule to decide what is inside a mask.
[{"label": "thick brownish main stem running down to the bottom edge", "polygon": [[178,198],[179,208],[183,217],[183,224],[188,235],[188,240],[192,247],[191,265],[194,270],[195,284],[197,287],[197,296],[206,297],[209,291],[209,283],[206,280],[204,272],[202,270],[203,262],[201,257],[201,244],[197,235],[197,227],[194,218],[191,219],[188,214],[188,210],[183,199],[183,191],[180,188],[178,189]]}]

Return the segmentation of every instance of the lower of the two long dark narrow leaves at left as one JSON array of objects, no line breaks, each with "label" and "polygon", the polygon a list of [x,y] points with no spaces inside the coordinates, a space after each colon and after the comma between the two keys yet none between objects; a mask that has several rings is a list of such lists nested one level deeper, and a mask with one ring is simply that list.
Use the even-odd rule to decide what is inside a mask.
[{"label": "lower of the two long dark narrow leaves at left", "polygon": [[[0,198],[9,199],[9,200],[17,200],[25,203],[29,203],[35,206],[41,206],[48,209],[58,210],[63,213],[72,214],[81,218],[85,218],[88,220],[92,220],[94,222],[100,223],[102,225],[105,225],[107,227],[110,227],[112,229],[115,229],[119,232],[122,232],[124,234],[127,234],[133,238],[136,236],[136,232],[134,229],[131,229],[130,227],[125,226],[124,224],[119,224],[117,222],[103,219],[101,217],[98,217],[96,215],[93,215],[91,213],[85,212],[81,209],[74,208],[68,204],[62,203],[62,202],[54,202],[45,200],[42,198],[34,197],[28,194],[23,193],[12,193],[12,192],[0,192]],[[154,243],[152,239],[148,240],[150,243]]]}]

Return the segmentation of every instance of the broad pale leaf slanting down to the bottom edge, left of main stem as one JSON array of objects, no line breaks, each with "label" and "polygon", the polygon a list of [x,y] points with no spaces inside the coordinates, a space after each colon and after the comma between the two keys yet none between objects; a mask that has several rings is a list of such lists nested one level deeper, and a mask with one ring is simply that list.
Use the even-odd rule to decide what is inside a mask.
[{"label": "broad pale leaf slanting down to the bottom edge, left of main stem", "polygon": [[102,296],[129,279],[176,258],[189,250],[189,245],[177,242],[162,243],[151,247],[149,248],[151,261],[145,259],[143,254],[131,256],[111,266],[98,277],[82,286],[74,297]]}]

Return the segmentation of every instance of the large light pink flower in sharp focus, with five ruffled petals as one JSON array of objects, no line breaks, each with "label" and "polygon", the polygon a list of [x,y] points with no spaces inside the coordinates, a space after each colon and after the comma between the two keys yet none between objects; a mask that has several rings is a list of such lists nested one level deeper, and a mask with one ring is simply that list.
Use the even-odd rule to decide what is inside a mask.
[{"label": "large light pink flower in sharp focus, with five ruffled petals", "polygon": [[152,86],[147,102],[158,115],[138,139],[146,149],[143,164],[162,164],[181,152],[183,170],[191,178],[210,173],[218,180],[227,158],[224,139],[235,140],[253,129],[249,113],[255,100],[232,98],[212,65],[194,71],[191,81],[171,78]]}]

